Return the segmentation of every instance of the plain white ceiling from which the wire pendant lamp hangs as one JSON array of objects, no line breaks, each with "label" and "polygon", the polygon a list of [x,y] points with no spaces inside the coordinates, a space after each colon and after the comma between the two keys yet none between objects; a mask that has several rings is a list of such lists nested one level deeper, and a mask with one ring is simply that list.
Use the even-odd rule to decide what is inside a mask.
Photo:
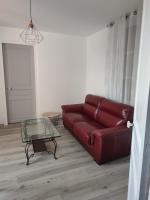
[{"label": "plain white ceiling from which the wire pendant lamp hangs", "polygon": [[[32,15],[43,31],[87,36],[138,7],[138,0],[32,0]],[[29,0],[0,0],[0,26],[23,28]]]}]

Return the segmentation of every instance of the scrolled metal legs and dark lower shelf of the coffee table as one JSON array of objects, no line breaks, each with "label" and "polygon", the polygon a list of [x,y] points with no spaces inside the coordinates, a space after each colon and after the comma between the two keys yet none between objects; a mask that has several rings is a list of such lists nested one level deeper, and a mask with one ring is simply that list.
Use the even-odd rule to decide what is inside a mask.
[{"label": "scrolled metal legs and dark lower shelf of the coffee table", "polygon": [[[54,151],[49,151],[47,150],[46,144],[47,142],[52,142],[54,144]],[[33,146],[33,151],[34,153],[29,154],[29,148],[30,146]],[[27,142],[25,145],[25,154],[26,154],[26,165],[29,165],[30,158],[34,157],[35,153],[39,152],[47,152],[47,153],[52,153],[54,156],[54,159],[56,160],[56,150],[57,150],[57,142],[55,138],[48,138],[48,139],[37,139],[37,140],[32,140],[30,142]]]}]

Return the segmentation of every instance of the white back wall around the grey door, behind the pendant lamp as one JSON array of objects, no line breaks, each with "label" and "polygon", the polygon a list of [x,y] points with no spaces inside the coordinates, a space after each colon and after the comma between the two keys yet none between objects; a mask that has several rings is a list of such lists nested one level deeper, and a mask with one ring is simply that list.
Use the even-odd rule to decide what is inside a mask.
[{"label": "white back wall around the grey door, behind the pendant lamp", "polygon": [[[0,27],[0,44],[22,43],[20,31]],[[38,115],[59,111],[61,104],[82,102],[86,84],[85,38],[46,32],[43,35],[44,41],[35,47]],[[0,123],[6,121],[3,78],[0,51]]]}]

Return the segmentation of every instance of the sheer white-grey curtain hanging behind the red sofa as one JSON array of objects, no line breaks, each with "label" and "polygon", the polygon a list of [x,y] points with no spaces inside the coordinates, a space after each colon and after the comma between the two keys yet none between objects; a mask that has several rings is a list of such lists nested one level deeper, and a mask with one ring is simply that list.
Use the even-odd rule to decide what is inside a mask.
[{"label": "sheer white-grey curtain hanging behind the red sofa", "polygon": [[[133,12],[122,16],[109,29],[106,60],[108,97],[134,105],[140,17]],[[136,56],[135,56],[136,55]]]}]

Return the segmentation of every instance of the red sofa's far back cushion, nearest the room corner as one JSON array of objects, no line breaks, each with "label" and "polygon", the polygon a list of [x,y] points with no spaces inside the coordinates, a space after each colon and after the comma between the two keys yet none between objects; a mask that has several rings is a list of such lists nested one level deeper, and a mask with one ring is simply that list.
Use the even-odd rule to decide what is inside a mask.
[{"label": "red sofa's far back cushion, nearest the room corner", "polygon": [[95,120],[102,97],[88,94],[83,105],[83,113]]}]

